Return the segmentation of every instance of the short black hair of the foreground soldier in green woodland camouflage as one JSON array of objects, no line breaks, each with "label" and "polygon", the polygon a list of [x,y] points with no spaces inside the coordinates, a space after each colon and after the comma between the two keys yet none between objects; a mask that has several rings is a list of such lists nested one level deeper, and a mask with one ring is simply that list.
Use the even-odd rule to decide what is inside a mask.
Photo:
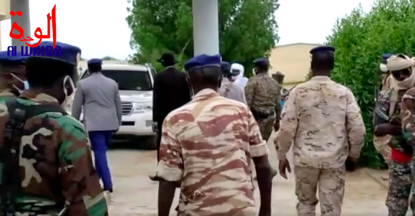
[{"label": "short black hair of the foreground soldier in green woodland camouflage", "polygon": [[26,78],[32,87],[52,87],[63,76],[74,76],[76,65],[56,58],[29,57]]}]

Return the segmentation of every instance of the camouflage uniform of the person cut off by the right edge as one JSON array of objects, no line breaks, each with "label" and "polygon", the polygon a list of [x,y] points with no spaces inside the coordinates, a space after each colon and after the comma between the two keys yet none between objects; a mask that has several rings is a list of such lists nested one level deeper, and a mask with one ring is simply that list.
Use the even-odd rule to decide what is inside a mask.
[{"label": "camouflage uniform of the person cut off by the right edge", "polygon": [[[405,95],[402,98],[401,103],[401,119],[402,119],[402,131],[403,131],[403,138],[405,139],[406,143],[412,147],[415,147],[415,128],[413,124],[415,124],[415,87],[406,91]],[[415,194],[415,159],[412,157],[412,161],[410,163],[411,167],[411,180],[412,180],[412,197],[410,199],[410,206],[415,206],[415,199],[413,198],[413,194]],[[412,208],[412,212],[413,212]],[[415,214],[415,213],[414,213]]]}]

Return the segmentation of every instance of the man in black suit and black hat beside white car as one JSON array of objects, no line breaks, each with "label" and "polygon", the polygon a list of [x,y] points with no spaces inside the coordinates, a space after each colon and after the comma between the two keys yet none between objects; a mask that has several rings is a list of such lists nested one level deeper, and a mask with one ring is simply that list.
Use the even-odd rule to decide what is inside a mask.
[{"label": "man in black suit and black hat beside white car", "polygon": [[[158,162],[163,121],[169,112],[189,102],[191,96],[186,74],[174,68],[174,55],[164,53],[157,61],[165,67],[155,76],[153,89],[153,130],[157,132]],[[157,174],[149,177],[153,181],[158,180]]]}]

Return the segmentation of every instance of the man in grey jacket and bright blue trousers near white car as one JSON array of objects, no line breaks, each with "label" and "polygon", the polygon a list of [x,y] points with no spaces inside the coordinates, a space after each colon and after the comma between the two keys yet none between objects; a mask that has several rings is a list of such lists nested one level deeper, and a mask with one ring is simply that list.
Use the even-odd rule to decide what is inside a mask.
[{"label": "man in grey jacket and bright blue trousers near white car", "polygon": [[89,133],[97,173],[104,190],[112,193],[112,180],[107,162],[107,146],[111,135],[121,125],[122,105],[117,83],[102,73],[102,60],[88,61],[89,76],[78,82],[72,105],[72,116],[79,120],[84,111],[85,128]]}]

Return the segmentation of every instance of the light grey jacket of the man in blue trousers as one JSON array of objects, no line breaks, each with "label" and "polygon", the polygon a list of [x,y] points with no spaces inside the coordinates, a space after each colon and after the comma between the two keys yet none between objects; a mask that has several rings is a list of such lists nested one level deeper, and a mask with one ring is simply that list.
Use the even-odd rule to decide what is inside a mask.
[{"label": "light grey jacket of the man in blue trousers", "polygon": [[117,83],[102,73],[93,73],[78,82],[72,116],[83,120],[87,131],[115,131],[121,125],[122,104]]}]

